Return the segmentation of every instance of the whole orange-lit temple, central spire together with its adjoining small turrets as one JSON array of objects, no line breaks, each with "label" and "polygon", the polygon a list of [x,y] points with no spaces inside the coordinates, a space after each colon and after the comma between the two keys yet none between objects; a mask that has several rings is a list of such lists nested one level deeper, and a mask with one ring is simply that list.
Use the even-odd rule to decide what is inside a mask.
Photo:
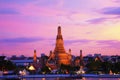
[{"label": "whole orange-lit temple, central spire together with its adjoining small turrets", "polygon": [[61,33],[61,27],[58,27],[57,37],[56,37],[56,44],[54,51],[50,51],[50,56],[48,62],[53,60],[56,65],[70,65],[71,64],[71,50],[69,53],[66,53],[64,49],[64,41]]}]

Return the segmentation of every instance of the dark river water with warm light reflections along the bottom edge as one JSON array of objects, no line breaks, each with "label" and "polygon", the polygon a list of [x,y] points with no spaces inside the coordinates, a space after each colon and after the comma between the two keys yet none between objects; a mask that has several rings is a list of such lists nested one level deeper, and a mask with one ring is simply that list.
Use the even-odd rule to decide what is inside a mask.
[{"label": "dark river water with warm light reflections along the bottom edge", "polygon": [[72,79],[72,78],[29,78],[22,80],[120,80],[120,78],[82,78],[82,79]]}]

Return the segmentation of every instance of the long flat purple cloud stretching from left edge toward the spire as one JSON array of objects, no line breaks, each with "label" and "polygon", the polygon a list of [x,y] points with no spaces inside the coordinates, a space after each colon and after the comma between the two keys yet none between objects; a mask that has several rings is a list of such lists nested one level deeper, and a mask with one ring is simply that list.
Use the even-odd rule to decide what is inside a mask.
[{"label": "long flat purple cloud stretching from left edge toward the spire", "polygon": [[41,41],[43,38],[25,38],[25,37],[20,37],[20,38],[6,38],[6,39],[0,39],[0,42],[2,43],[28,43],[28,42],[37,42]]}]

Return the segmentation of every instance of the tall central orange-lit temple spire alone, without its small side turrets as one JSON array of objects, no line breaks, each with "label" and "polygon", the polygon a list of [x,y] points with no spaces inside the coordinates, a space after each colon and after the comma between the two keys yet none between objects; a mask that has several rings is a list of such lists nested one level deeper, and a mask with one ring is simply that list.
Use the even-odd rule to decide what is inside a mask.
[{"label": "tall central orange-lit temple spire alone, without its small side turrets", "polygon": [[57,28],[57,38],[56,38],[54,54],[55,54],[58,65],[70,64],[70,60],[68,60],[68,54],[66,53],[66,51],[64,49],[64,40],[62,37],[62,32],[61,32],[60,26],[58,26],[58,28]]}]

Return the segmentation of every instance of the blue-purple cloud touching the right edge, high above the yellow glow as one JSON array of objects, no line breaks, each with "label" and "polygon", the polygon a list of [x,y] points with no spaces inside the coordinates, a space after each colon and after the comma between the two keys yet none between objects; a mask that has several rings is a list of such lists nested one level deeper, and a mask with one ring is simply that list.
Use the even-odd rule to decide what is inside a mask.
[{"label": "blue-purple cloud touching the right edge, high above the yellow glow", "polygon": [[102,9],[102,14],[107,15],[120,15],[120,7],[108,7]]}]

